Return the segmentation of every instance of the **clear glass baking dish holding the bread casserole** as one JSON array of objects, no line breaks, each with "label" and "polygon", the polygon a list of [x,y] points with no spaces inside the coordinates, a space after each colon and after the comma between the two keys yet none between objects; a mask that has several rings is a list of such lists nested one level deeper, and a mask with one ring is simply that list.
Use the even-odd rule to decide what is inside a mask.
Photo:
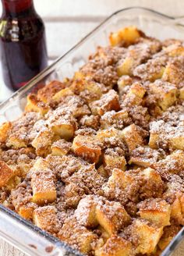
[{"label": "clear glass baking dish holding the bread casserole", "polygon": [[[87,57],[95,52],[98,45],[108,44],[108,35],[120,27],[135,25],[147,35],[161,40],[173,37],[184,39],[184,26],[179,22],[182,19],[165,16],[150,9],[139,7],[127,8],[115,12],[104,20],[90,34],[83,38],[76,46],[62,57],[58,58],[51,66],[34,77],[26,87],[23,87],[0,105],[0,123],[12,121],[23,112],[27,101],[27,94],[37,90],[37,87],[48,83],[50,80],[63,80],[72,77],[73,73],[83,66]],[[19,250],[30,255],[80,255],[67,244],[56,239],[27,222],[15,212],[0,205],[0,236]],[[172,255],[184,238],[184,228],[168,245],[162,256]],[[182,255],[182,254],[181,254]]]}]

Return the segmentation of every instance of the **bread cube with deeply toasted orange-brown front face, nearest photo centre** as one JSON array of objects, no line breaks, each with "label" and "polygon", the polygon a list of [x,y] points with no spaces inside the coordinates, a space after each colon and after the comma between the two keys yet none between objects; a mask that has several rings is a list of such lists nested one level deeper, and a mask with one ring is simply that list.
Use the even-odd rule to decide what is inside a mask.
[{"label": "bread cube with deeply toasted orange-brown front face, nearest photo centre", "polygon": [[94,137],[90,136],[77,135],[73,140],[72,149],[76,155],[90,162],[97,163],[101,156],[101,148],[97,145]]}]

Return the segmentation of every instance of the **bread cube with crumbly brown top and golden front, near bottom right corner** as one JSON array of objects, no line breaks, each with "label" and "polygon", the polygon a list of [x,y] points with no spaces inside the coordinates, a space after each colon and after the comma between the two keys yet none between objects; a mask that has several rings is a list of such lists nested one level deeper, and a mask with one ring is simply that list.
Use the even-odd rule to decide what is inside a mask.
[{"label": "bread cube with crumbly brown top and golden front, near bottom right corner", "polygon": [[171,211],[171,205],[165,200],[148,199],[143,201],[138,213],[142,219],[147,219],[157,226],[169,226]]}]

